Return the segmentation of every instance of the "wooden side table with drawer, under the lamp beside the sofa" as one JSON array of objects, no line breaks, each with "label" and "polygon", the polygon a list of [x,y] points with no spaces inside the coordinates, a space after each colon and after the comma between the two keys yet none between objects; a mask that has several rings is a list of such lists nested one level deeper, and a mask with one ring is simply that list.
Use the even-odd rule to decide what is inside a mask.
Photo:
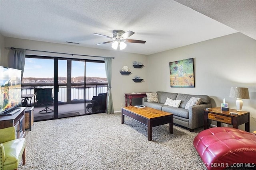
[{"label": "wooden side table with drawer, under the lamp beside the sofa", "polygon": [[[238,115],[231,115],[230,112],[238,113]],[[221,127],[221,123],[233,125],[233,128],[238,129],[239,125],[245,123],[245,131],[250,132],[250,112],[236,111],[236,109],[229,109],[229,111],[222,111],[221,107],[210,108],[204,110],[204,129],[209,128],[209,120],[217,121],[217,127]]]}]

